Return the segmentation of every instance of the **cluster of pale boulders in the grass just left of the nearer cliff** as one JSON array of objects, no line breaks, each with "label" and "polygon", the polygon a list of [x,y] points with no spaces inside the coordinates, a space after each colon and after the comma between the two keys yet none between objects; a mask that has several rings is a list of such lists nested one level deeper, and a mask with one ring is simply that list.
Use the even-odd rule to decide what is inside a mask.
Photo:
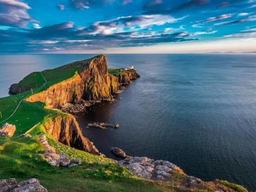
[{"label": "cluster of pale boulders in the grass just left of the nearer cliff", "polygon": [[70,160],[68,156],[64,153],[56,153],[56,150],[50,146],[46,140],[46,136],[42,135],[39,136],[39,141],[42,143],[44,147],[44,158],[52,165],[56,167],[70,167],[70,166],[76,166],[82,164],[82,162],[78,159],[72,159]]}]

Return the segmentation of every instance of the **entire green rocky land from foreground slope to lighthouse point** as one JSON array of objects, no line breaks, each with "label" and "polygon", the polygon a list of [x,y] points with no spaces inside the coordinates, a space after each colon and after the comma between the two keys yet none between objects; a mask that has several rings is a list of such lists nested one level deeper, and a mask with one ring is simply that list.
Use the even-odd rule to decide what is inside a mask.
[{"label": "entire green rocky land from foreground slope to lighthouse point", "polygon": [[11,95],[0,98],[0,191],[248,192],[224,180],[188,176],[166,160],[112,148],[124,158],[117,162],[82,135],[72,114],[114,101],[114,94],[139,77],[133,66],[108,68],[106,56],[98,55],[12,84]]}]

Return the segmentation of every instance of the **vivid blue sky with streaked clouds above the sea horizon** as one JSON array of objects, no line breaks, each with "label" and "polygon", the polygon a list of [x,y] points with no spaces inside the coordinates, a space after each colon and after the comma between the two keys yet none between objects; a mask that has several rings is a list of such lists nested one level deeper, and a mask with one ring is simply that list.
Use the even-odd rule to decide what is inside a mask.
[{"label": "vivid blue sky with streaked clouds above the sea horizon", "polygon": [[256,52],[256,0],[0,0],[0,54]]}]

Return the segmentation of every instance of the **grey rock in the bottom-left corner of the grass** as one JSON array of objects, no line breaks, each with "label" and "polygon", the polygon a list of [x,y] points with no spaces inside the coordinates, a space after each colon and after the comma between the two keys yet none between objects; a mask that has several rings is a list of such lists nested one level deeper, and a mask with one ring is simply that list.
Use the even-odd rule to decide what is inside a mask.
[{"label": "grey rock in the bottom-left corner of the grass", "polygon": [[16,179],[0,180],[0,192],[47,192],[37,179],[17,182]]}]

